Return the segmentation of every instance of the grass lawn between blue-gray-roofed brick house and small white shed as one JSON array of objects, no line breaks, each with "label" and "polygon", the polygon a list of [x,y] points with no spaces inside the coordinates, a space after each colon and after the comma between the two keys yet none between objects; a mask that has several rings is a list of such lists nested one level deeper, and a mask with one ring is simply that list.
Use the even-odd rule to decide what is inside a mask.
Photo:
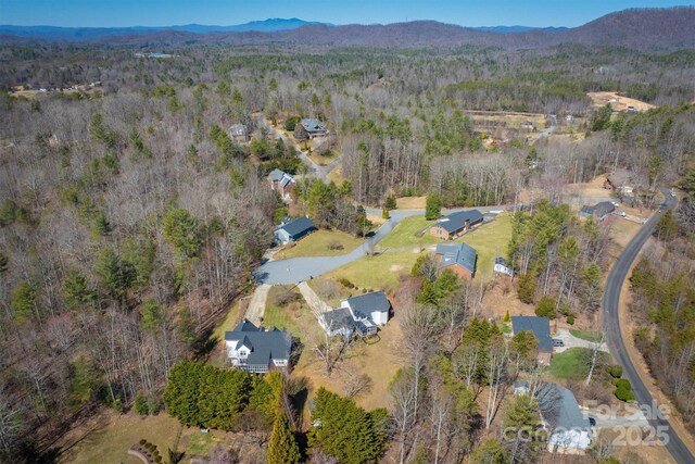
[{"label": "grass lawn between blue-gray-roofed brick house and small white shed", "polygon": [[510,238],[511,216],[498,214],[493,222],[472,229],[455,241],[468,243],[478,252],[476,278],[491,279],[494,276],[495,258],[506,254]]}]

